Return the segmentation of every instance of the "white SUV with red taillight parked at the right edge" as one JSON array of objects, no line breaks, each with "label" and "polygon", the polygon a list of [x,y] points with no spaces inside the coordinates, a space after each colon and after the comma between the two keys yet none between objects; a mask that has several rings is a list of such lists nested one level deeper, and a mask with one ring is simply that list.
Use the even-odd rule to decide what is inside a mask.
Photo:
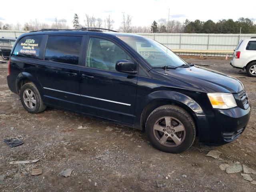
[{"label": "white SUV with red taillight parked at the right edge", "polygon": [[230,62],[234,68],[246,69],[250,77],[256,77],[256,38],[241,40],[234,49],[234,56]]}]

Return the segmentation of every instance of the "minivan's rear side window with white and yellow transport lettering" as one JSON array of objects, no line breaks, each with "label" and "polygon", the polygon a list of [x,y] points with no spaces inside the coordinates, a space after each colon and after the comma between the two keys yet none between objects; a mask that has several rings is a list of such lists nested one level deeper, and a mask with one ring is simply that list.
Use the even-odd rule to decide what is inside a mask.
[{"label": "minivan's rear side window with white and yellow transport lettering", "polygon": [[38,58],[41,42],[41,35],[22,37],[16,44],[13,54],[19,57]]}]

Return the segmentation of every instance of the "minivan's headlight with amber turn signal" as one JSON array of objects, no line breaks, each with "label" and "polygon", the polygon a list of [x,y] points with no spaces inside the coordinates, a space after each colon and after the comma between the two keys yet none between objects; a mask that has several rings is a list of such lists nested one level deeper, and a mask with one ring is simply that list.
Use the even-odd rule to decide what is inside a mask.
[{"label": "minivan's headlight with amber turn signal", "polygon": [[215,109],[229,109],[236,107],[236,100],[231,93],[208,93],[208,98]]}]

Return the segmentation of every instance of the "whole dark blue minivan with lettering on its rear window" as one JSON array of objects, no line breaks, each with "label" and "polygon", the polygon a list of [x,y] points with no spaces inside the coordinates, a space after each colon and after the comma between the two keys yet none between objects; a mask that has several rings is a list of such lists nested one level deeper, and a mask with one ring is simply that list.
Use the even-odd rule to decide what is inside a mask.
[{"label": "whole dark blue minivan with lettering on its rear window", "polygon": [[194,66],[135,34],[40,30],[14,44],[7,76],[30,113],[46,106],[145,130],[152,145],[179,153],[196,135],[225,144],[244,131],[250,104],[236,78]]}]

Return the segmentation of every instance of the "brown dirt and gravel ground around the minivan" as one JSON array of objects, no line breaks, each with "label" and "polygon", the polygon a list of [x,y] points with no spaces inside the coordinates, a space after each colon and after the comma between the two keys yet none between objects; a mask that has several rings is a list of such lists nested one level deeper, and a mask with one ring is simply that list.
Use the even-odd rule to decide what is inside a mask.
[{"label": "brown dirt and gravel ground around the minivan", "polygon": [[[240,173],[227,174],[219,165],[240,162],[256,170],[256,78],[232,68],[226,60],[185,60],[244,83],[252,114],[246,130],[234,142],[209,147],[196,140],[186,152],[168,154],[153,148],[144,132],[106,120],[54,108],[29,114],[8,89],[7,64],[0,64],[0,191],[255,192],[256,185]],[[77,129],[79,126],[83,129]],[[14,136],[24,144],[8,147],[4,139]],[[220,159],[205,156],[208,150],[222,152]],[[40,160],[9,164],[33,159]],[[42,174],[22,173],[34,168],[42,168]],[[73,169],[70,177],[58,176],[64,168]],[[251,176],[256,180],[256,175]],[[157,187],[156,180],[165,186]]]}]

